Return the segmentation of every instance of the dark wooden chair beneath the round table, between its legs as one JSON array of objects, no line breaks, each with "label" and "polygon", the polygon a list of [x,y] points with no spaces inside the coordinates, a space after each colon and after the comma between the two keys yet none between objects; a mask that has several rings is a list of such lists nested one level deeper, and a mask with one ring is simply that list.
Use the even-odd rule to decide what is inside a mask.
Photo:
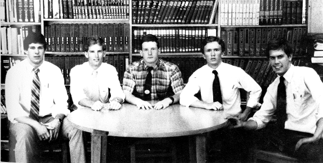
[{"label": "dark wooden chair beneath the round table, between its legs", "polygon": [[172,162],[177,162],[175,143],[165,138],[139,139],[130,147],[131,163],[136,158],[153,160],[161,157],[171,157]]}]

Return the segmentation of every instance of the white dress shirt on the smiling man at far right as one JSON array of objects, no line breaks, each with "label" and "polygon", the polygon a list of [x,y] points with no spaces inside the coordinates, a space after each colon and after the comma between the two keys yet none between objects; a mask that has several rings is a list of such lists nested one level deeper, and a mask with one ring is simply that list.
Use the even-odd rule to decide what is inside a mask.
[{"label": "white dress shirt on the smiling man at far right", "polygon": [[[316,122],[323,117],[323,84],[317,73],[308,67],[290,65],[283,75],[286,86],[285,129],[314,133]],[[272,119],[276,110],[279,76],[268,87],[259,111],[249,120],[263,128]]]}]

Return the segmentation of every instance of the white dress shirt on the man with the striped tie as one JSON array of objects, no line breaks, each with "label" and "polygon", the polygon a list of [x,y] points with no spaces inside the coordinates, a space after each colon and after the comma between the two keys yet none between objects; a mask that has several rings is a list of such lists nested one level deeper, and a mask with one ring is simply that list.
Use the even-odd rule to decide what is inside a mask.
[{"label": "white dress shirt on the man with the striped tie", "polygon": [[[9,69],[6,76],[6,106],[8,119],[17,123],[14,119],[29,116],[32,98],[32,82],[34,67],[27,59]],[[68,110],[68,96],[64,85],[61,69],[44,61],[39,67],[40,79],[40,108],[39,116],[70,113]]]}]

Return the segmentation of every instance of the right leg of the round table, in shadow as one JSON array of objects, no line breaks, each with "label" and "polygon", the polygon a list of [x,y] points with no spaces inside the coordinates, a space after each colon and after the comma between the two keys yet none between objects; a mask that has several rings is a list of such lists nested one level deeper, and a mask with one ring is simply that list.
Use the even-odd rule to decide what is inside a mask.
[{"label": "right leg of the round table, in shadow", "polygon": [[195,135],[196,162],[207,162],[207,135],[205,133]]}]

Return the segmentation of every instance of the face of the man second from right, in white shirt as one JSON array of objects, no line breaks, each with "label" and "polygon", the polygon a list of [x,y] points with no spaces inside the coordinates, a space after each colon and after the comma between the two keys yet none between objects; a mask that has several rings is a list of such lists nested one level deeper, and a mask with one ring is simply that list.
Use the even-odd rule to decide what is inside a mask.
[{"label": "face of the man second from right, in white shirt", "polygon": [[203,58],[207,60],[208,66],[216,69],[222,62],[222,49],[218,42],[209,42],[204,46]]}]

